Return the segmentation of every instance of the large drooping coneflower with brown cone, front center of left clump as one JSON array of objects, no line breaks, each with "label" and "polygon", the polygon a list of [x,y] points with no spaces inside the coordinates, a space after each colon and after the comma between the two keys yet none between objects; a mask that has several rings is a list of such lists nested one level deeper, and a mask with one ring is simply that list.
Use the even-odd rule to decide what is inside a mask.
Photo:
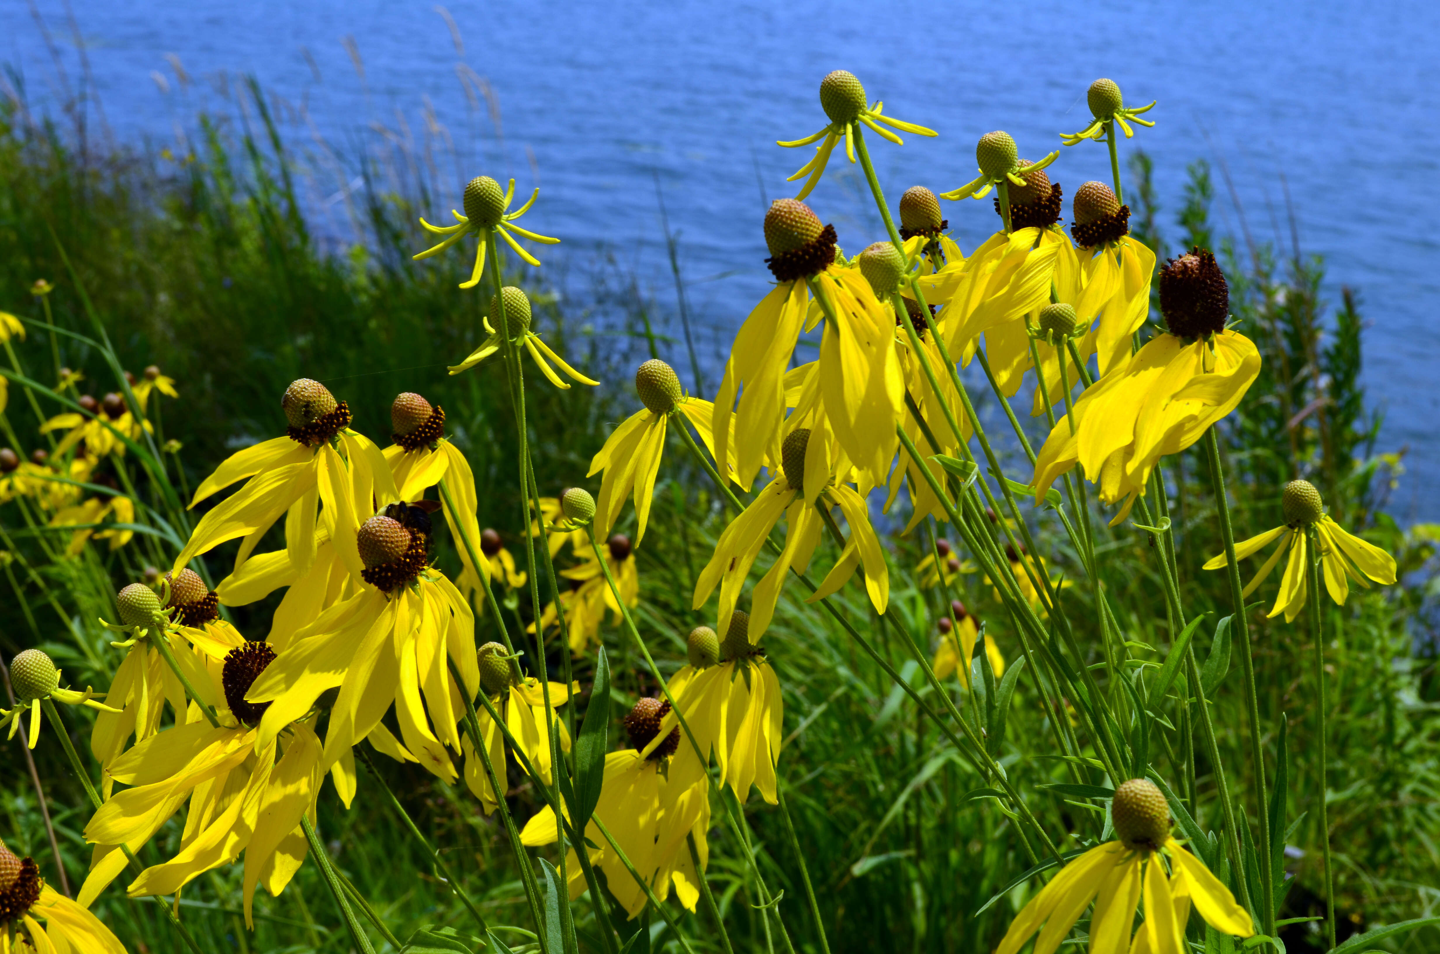
[{"label": "large drooping coneflower with brown cone, front center of left clump", "polygon": [[[323,768],[337,772],[336,788],[347,806],[354,797],[350,751],[380,726],[390,703],[405,746],[426,770],[454,781],[445,746],[459,749],[455,693],[480,686],[475,617],[455,585],[429,565],[428,513],[386,504],[360,526],[356,543],[363,569],[348,582],[354,595],[298,630],[248,696],[253,703],[274,703],[259,726],[258,745],[264,745],[308,712],[323,692],[338,687]],[[455,686],[448,659],[461,672],[464,689]]]}]

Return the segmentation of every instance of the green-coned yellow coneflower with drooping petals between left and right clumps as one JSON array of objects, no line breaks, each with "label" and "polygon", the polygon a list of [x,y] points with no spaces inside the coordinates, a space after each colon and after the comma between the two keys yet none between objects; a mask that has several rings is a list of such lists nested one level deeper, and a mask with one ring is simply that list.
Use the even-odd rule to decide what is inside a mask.
[{"label": "green-coned yellow coneflower with drooping petals between left and right clumps", "polygon": [[713,455],[714,438],[710,434],[710,424],[714,418],[714,405],[684,393],[675,369],[658,357],[642,363],[635,372],[635,392],[645,408],[611,432],[605,447],[590,458],[590,473],[586,477],[605,471],[595,512],[595,532],[599,536],[611,532],[621,507],[625,506],[625,499],[634,494],[638,525],[635,546],[639,546],[645,538],[645,523],[649,520],[660,458],[665,453],[667,422],[671,415],[684,415]]}]

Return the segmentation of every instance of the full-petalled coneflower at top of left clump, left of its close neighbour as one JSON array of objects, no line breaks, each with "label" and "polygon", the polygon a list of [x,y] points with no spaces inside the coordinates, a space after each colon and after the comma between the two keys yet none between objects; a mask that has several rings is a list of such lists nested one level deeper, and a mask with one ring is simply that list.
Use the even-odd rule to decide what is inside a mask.
[{"label": "full-petalled coneflower at top of left clump, left of its close neighbour", "polygon": [[292,382],[281,408],[289,422],[285,437],[230,455],[196,487],[190,507],[238,480],[246,481],[200,519],[176,558],[176,572],[220,543],[245,538],[235,558],[235,569],[240,569],[282,516],[285,548],[298,568],[308,568],[323,503],[336,512],[336,543],[359,575],[354,526],[343,514],[354,509],[353,501],[369,501],[372,496],[393,500],[397,494],[390,467],[379,447],[350,429],[348,405],[337,402],[320,382]]}]

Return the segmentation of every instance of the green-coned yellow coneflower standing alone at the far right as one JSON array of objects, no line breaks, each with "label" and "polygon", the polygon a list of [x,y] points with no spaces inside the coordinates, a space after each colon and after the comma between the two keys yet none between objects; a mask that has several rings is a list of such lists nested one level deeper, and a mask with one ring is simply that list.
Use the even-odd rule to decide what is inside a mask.
[{"label": "green-coned yellow coneflower standing alone at the far right", "polygon": [[[1365,588],[1369,588],[1369,584],[1365,582],[1367,578],[1385,585],[1395,582],[1395,558],[1341,527],[1331,514],[1325,513],[1320,491],[1310,481],[1292,480],[1287,483],[1280,497],[1280,506],[1284,510],[1284,525],[1236,543],[1236,559],[1244,559],[1283,538],[1270,559],[1260,566],[1260,572],[1246,585],[1241,594],[1244,597],[1254,592],[1256,587],[1270,576],[1276,563],[1280,562],[1280,556],[1290,550],[1290,559],[1280,578],[1280,591],[1276,594],[1270,617],[1283,612],[1284,621],[1289,623],[1305,608],[1310,585],[1306,562],[1310,559],[1310,540],[1306,536],[1310,527],[1315,529],[1315,536],[1319,539],[1318,558],[1325,578],[1325,589],[1338,605],[1345,605],[1351,579]],[[1228,565],[1230,561],[1221,553],[1211,558],[1204,568],[1221,569]]]}]

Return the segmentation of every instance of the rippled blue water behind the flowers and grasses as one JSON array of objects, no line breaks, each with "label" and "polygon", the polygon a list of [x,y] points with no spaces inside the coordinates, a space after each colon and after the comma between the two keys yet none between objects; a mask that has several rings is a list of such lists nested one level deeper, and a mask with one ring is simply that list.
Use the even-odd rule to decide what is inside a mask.
[{"label": "rippled blue water behind the flowers and grasses", "polygon": [[[444,137],[478,157],[464,169],[436,160],[454,186],[436,215],[478,171],[514,176],[526,190],[539,183],[524,225],[560,236],[564,261],[611,248],[670,300],[658,173],[707,362],[766,288],[765,200],[793,195],[783,179],[809,156],[775,140],[822,124],[825,72],[855,72],[886,112],[940,131],[904,147],[870,137],[891,200],[914,183],[940,190],[971,179],[973,141],[992,128],[1011,131],[1022,156],[1057,148],[1057,133],[1086,125],[1086,85],[1112,76],[1130,104],[1159,99],[1148,114],[1159,125],[1125,148],[1155,157],[1172,241],[1185,164],[1204,156],[1215,166],[1217,226],[1241,248],[1248,231],[1287,252],[1283,174],[1302,254],[1323,254],[1328,290],[1356,288],[1371,321],[1364,380],[1385,412],[1378,450],[1408,448],[1391,509],[1401,520],[1440,519],[1436,4],[456,0],[459,43],[428,1],[81,1],[79,42],[62,0],[36,4],[72,84],[84,48],[118,140],[171,138],[196,107],[223,105],[223,73],[253,73],[288,102],[287,133],[301,143],[311,141],[307,122],[340,147],[379,124],[423,153],[429,104]],[[0,0],[0,59],[23,69],[32,104],[59,102],[29,0]],[[503,135],[490,107],[467,97],[456,63],[488,79]],[[1104,148],[1064,150],[1053,177],[1070,195],[1107,180]],[[344,183],[325,173],[308,182],[315,206],[340,222]],[[883,238],[868,203],[844,163],[812,196],[851,251]],[[966,249],[995,223],[988,202],[948,205],[946,215]],[[685,367],[683,350],[672,357]]]}]

